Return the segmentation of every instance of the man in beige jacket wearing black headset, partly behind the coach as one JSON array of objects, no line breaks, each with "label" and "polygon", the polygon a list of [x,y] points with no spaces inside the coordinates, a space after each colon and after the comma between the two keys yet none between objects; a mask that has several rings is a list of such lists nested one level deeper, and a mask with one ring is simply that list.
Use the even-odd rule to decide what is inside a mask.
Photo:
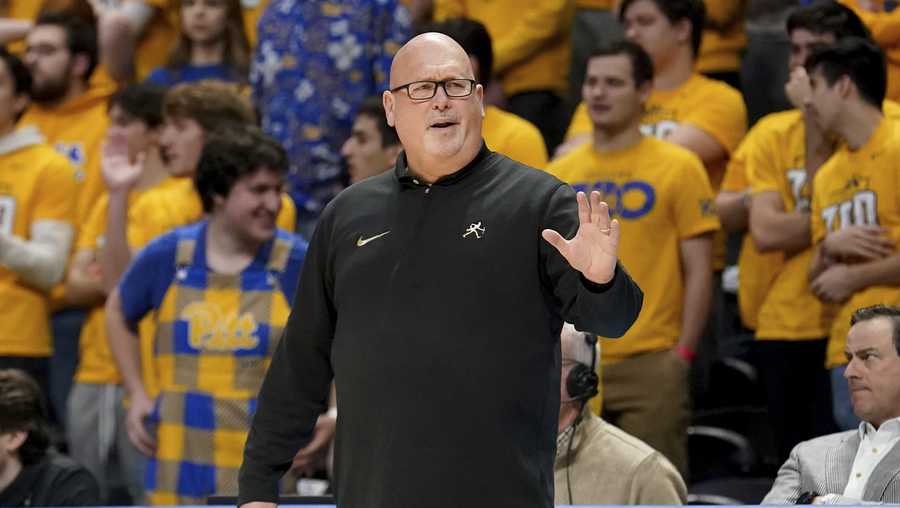
[{"label": "man in beige jacket wearing black headset, partly behind the coach", "polygon": [[675,466],[587,407],[599,380],[596,337],[566,323],[560,345],[556,504],[683,504],[687,488]]}]

